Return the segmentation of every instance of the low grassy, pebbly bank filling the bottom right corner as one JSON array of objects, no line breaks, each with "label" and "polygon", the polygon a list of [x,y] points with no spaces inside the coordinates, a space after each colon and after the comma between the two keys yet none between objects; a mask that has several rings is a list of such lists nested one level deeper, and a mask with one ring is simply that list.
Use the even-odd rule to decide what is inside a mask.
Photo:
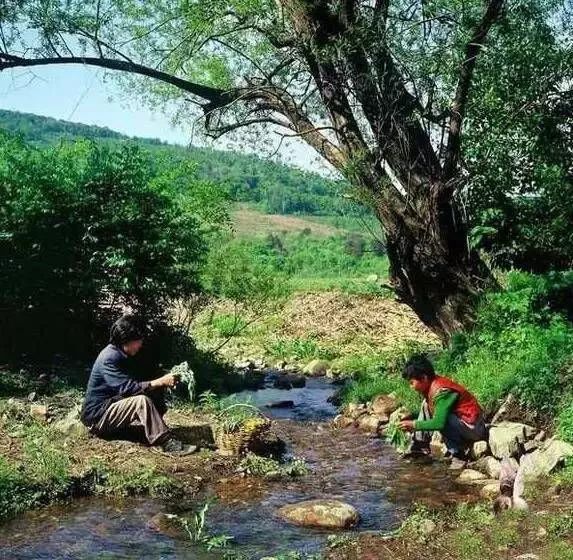
[{"label": "low grassy, pebbly bank filling the bottom right corner", "polygon": [[[570,473],[571,471],[568,471]],[[543,481],[529,511],[494,515],[489,504],[414,508],[393,534],[369,534],[331,547],[327,560],[573,559],[571,486]],[[524,555],[524,556],[521,556]]]}]

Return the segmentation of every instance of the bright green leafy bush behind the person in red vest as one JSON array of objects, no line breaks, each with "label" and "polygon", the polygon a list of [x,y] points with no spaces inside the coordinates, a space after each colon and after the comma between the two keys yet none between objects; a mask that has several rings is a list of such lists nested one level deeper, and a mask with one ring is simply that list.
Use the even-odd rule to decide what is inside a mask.
[{"label": "bright green leafy bush behind the person in red vest", "polygon": [[438,369],[490,411],[513,392],[530,410],[554,414],[573,347],[573,327],[552,303],[554,282],[555,276],[510,273],[504,290],[484,297],[474,330],[439,356]]}]

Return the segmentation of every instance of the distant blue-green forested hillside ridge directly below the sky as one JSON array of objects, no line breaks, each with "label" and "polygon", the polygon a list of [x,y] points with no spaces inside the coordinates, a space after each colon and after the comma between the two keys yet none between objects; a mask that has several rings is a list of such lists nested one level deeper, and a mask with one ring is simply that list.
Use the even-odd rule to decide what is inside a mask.
[{"label": "distant blue-green forested hillside ridge directly below the sky", "polygon": [[199,175],[223,184],[231,198],[270,214],[362,216],[366,209],[341,196],[342,181],[261,159],[254,155],[170,145],[153,138],[130,138],[99,126],[77,124],[29,113],[0,110],[0,128],[37,145],[88,138],[97,142],[135,142],[146,149],[190,158]]}]

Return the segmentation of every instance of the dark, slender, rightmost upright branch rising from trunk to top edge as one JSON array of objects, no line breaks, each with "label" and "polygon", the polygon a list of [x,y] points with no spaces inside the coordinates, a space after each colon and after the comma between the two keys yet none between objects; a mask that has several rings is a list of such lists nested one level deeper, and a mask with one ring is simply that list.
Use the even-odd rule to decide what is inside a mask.
[{"label": "dark, slender, rightmost upright branch rising from trunk to top edge", "polygon": [[444,161],[444,179],[450,180],[456,173],[461,149],[462,121],[472,83],[477,58],[485,44],[489,30],[499,19],[504,0],[490,0],[481,21],[465,48],[464,61],[460,68],[458,85],[451,107],[448,144]]}]

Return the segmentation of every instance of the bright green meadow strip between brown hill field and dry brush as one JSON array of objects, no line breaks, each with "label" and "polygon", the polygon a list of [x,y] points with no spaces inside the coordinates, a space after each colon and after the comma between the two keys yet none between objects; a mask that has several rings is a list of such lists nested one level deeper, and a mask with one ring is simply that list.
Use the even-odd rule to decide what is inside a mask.
[{"label": "bright green meadow strip between brown hill field and dry brush", "polygon": [[[376,254],[366,238],[305,233],[222,239],[204,272],[206,285],[216,295],[243,300],[256,299],[257,291],[273,286],[287,294],[336,289],[382,295],[387,276],[387,257]],[[269,282],[261,281],[267,277]]]}]

